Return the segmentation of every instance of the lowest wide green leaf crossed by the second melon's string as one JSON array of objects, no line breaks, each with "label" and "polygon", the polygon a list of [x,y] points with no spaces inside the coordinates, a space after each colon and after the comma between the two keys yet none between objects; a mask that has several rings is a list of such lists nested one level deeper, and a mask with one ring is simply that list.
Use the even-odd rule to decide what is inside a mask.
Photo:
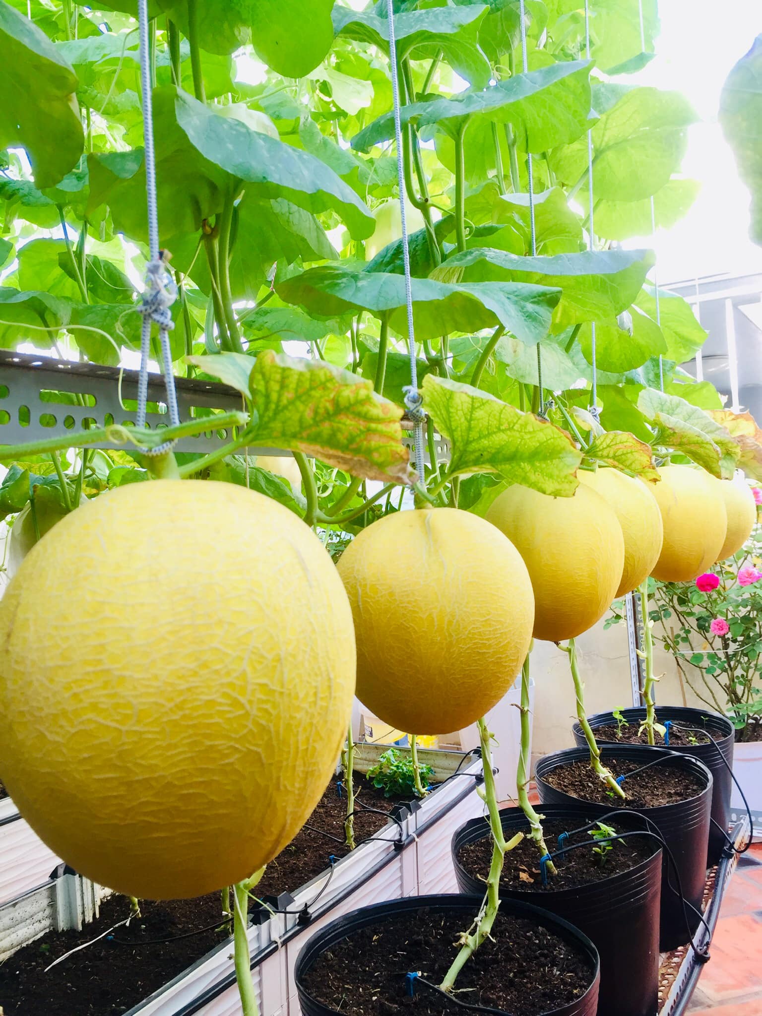
[{"label": "lowest wide green leaf crossed by the second melon's string", "polygon": [[[281,300],[318,317],[347,312],[389,314],[391,327],[406,333],[404,278],[401,275],[351,271],[324,265],[285,279],[275,287]],[[551,290],[523,282],[439,282],[412,279],[412,310],[418,338],[437,338],[452,331],[479,331],[502,324],[527,343],[538,342],[551,325],[561,297]]]}]

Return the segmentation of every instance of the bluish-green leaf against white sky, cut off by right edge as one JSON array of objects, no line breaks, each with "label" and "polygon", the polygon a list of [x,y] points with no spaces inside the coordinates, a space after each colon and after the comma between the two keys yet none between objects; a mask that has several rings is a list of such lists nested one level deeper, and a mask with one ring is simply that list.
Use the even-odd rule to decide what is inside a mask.
[{"label": "bluish-green leaf against white sky, cut off by right edge", "polygon": [[736,64],[722,88],[719,122],[752,195],[750,236],[762,244],[762,35]]}]

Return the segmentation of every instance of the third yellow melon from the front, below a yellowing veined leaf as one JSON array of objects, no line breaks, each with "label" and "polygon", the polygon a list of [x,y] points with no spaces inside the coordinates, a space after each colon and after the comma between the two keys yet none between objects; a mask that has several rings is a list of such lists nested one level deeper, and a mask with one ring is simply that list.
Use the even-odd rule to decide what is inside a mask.
[{"label": "third yellow melon from the front, below a yellowing veined leaf", "polygon": [[487,513],[524,559],[534,590],[534,638],[576,638],[609,610],[625,564],[614,509],[589,487],[553,498],[509,487]]}]

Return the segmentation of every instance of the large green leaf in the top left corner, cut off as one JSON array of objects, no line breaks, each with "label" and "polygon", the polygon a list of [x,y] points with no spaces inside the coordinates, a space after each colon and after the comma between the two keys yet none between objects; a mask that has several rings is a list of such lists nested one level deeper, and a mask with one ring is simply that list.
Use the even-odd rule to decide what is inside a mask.
[{"label": "large green leaf in the top left corner, cut off", "polygon": [[57,184],[82,153],[76,88],[45,33],[0,2],[0,150],[25,148],[38,187]]}]

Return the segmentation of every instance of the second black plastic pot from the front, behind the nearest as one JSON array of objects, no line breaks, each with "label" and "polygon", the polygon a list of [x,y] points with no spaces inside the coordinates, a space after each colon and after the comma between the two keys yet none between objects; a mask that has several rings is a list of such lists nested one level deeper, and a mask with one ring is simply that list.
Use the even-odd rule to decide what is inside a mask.
[{"label": "second black plastic pot from the front, behind the nearest", "polygon": [[[548,820],[563,819],[575,829],[593,821],[586,806],[554,805],[544,808]],[[518,808],[500,813],[506,839],[528,832],[529,823]],[[647,829],[637,812],[620,811],[607,819],[617,832]],[[472,819],[452,838],[452,860],[458,888],[464,893],[484,892],[484,882],[458,861],[458,850],[466,843],[490,836],[486,819]],[[661,897],[661,848],[651,839],[653,851],[629,872],[599,882],[556,892],[542,892],[502,886],[500,898],[520,900],[541,906],[572,922],[586,935],[600,955],[600,991],[597,1016],[655,1016],[658,1012],[658,938]],[[592,841],[590,841],[592,845]],[[548,844],[549,850],[554,847]],[[557,859],[556,865],[563,866]],[[553,880],[551,880],[551,885]]]}]

